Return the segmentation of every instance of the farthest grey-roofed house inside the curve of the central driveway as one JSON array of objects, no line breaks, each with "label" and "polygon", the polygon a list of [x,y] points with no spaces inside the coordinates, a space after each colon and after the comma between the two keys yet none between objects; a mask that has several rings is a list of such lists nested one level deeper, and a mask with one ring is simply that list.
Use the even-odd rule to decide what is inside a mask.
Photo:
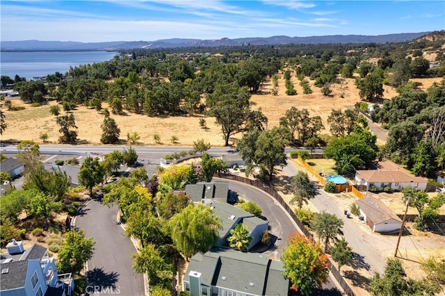
[{"label": "farthest grey-roofed house inside the curve of the central driveway", "polygon": [[227,182],[187,184],[184,190],[195,204],[197,202],[209,204],[212,201],[235,203],[238,198],[236,192],[229,190]]}]

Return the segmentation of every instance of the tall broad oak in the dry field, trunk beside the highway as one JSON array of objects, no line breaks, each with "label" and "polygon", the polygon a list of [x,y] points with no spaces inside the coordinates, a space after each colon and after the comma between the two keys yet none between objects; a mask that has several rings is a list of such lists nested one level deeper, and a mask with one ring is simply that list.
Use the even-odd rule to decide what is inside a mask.
[{"label": "tall broad oak in the dry field, trunk beside the highway", "polygon": [[229,146],[231,135],[242,131],[250,112],[249,99],[248,90],[234,83],[218,84],[215,91],[207,95],[207,115],[215,117],[221,126],[225,146]]}]

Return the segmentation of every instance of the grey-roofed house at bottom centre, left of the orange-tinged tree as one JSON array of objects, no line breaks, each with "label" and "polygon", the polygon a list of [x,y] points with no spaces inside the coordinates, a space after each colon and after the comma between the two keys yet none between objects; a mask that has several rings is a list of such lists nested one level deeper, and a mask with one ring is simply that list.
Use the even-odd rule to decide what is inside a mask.
[{"label": "grey-roofed house at bottom centre, left of the orange-tinged tree", "polygon": [[282,262],[225,247],[191,258],[182,288],[191,296],[289,295]]}]

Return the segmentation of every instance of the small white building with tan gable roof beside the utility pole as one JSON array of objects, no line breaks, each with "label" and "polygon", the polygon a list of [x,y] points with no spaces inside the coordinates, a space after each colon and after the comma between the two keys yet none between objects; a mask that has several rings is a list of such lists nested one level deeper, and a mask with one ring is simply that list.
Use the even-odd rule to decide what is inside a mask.
[{"label": "small white building with tan gable roof beside the utility pole", "polygon": [[371,196],[357,199],[355,202],[360,208],[360,215],[373,232],[391,232],[401,229],[402,220],[380,199]]}]

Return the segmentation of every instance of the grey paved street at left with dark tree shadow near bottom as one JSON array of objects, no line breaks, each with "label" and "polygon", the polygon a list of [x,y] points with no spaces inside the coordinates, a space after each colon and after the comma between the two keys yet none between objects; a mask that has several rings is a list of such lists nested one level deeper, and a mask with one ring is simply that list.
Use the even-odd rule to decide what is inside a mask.
[{"label": "grey paved street at left with dark tree shadow near bottom", "polygon": [[88,286],[102,287],[102,293],[108,294],[144,295],[143,275],[136,274],[131,267],[131,254],[136,249],[117,224],[117,212],[117,206],[108,208],[92,199],[83,208],[83,215],[76,217],[76,227],[96,241],[95,255],[88,261]]}]

